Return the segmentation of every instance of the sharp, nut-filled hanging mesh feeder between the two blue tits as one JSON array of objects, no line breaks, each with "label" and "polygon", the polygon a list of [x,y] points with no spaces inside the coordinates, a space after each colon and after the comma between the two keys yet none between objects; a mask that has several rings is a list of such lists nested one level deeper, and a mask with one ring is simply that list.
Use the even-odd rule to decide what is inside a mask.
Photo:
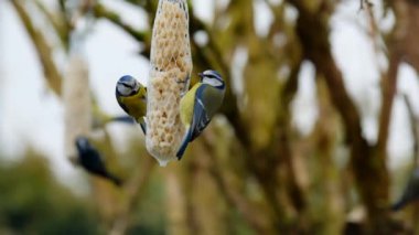
[{"label": "sharp, nut-filled hanging mesh feeder between the two blue tits", "polygon": [[146,146],[162,167],[176,160],[185,131],[179,106],[191,72],[186,0],[160,0],[151,41]]}]

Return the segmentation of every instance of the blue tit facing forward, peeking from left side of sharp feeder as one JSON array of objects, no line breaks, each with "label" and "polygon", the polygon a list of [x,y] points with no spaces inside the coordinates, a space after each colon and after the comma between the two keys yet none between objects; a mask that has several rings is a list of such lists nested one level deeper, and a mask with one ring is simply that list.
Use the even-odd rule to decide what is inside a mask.
[{"label": "blue tit facing forward, peeking from left side of sharp feeder", "polygon": [[115,95],[119,106],[136,119],[146,135],[147,88],[132,76],[125,75],[119,78]]}]

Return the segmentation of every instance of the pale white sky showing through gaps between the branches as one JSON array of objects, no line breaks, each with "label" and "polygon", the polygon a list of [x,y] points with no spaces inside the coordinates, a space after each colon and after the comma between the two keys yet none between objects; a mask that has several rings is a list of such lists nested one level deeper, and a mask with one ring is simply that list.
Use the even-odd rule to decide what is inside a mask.
[{"label": "pale white sky showing through gaps between the branches", "polygon": [[[212,11],[208,9],[214,8],[214,2],[195,2],[200,3],[195,4],[194,13],[211,21]],[[219,2],[225,4],[226,1]],[[343,2],[331,24],[333,55],[344,74],[351,96],[363,114],[364,135],[374,142],[380,99],[378,68],[385,67],[386,62],[373,51],[365,34],[365,15],[358,12],[357,1]],[[105,3],[121,12],[123,20],[132,25],[147,28],[147,19],[141,11],[117,0],[106,0]],[[258,25],[258,33],[264,35],[271,22],[271,14],[264,1],[258,0],[255,6],[255,24]],[[382,14],[379,11],[376,13]],[[288,15],[290,20],[297,17],[292,9],[288,10]],[[391,15],[379,23],[383,29],[390,29]],[[84,44],[90,85],[100,107],[108,114],[122,114],[114,96],[116,81],[121,75],[130,74],[147,83],[148,62],[137,55],[138,51],[138,44],[130,36],[106,21],[95,23]],[[54,172],[67,182],[68,178],[78,175],[79,171],[68,163],[64,154],[62,103],[45,88],[35,51],[8,1],[0,1],[0,152],[13,160],[31,145],[51,159]],[[65,62],[65,58],[62,60]],[[239,64],[237,70],[240,70]],[[237,70],[233,68],[233,73]],[[318,115],[314,70],[310,62],[304,63],[299,77],[299,93],[292,107],[299,114],[293,121],[302,133],[310,132]],[[239,74],[234,75],[237,77]],[[416,114],[419,114],[419,84],[415,71],[405,64],[398,76],[398,90],[409,95]],[[391,168],[409,160],[412,142],[406,114],[402,98],[397,96],[388,148]]]}]

